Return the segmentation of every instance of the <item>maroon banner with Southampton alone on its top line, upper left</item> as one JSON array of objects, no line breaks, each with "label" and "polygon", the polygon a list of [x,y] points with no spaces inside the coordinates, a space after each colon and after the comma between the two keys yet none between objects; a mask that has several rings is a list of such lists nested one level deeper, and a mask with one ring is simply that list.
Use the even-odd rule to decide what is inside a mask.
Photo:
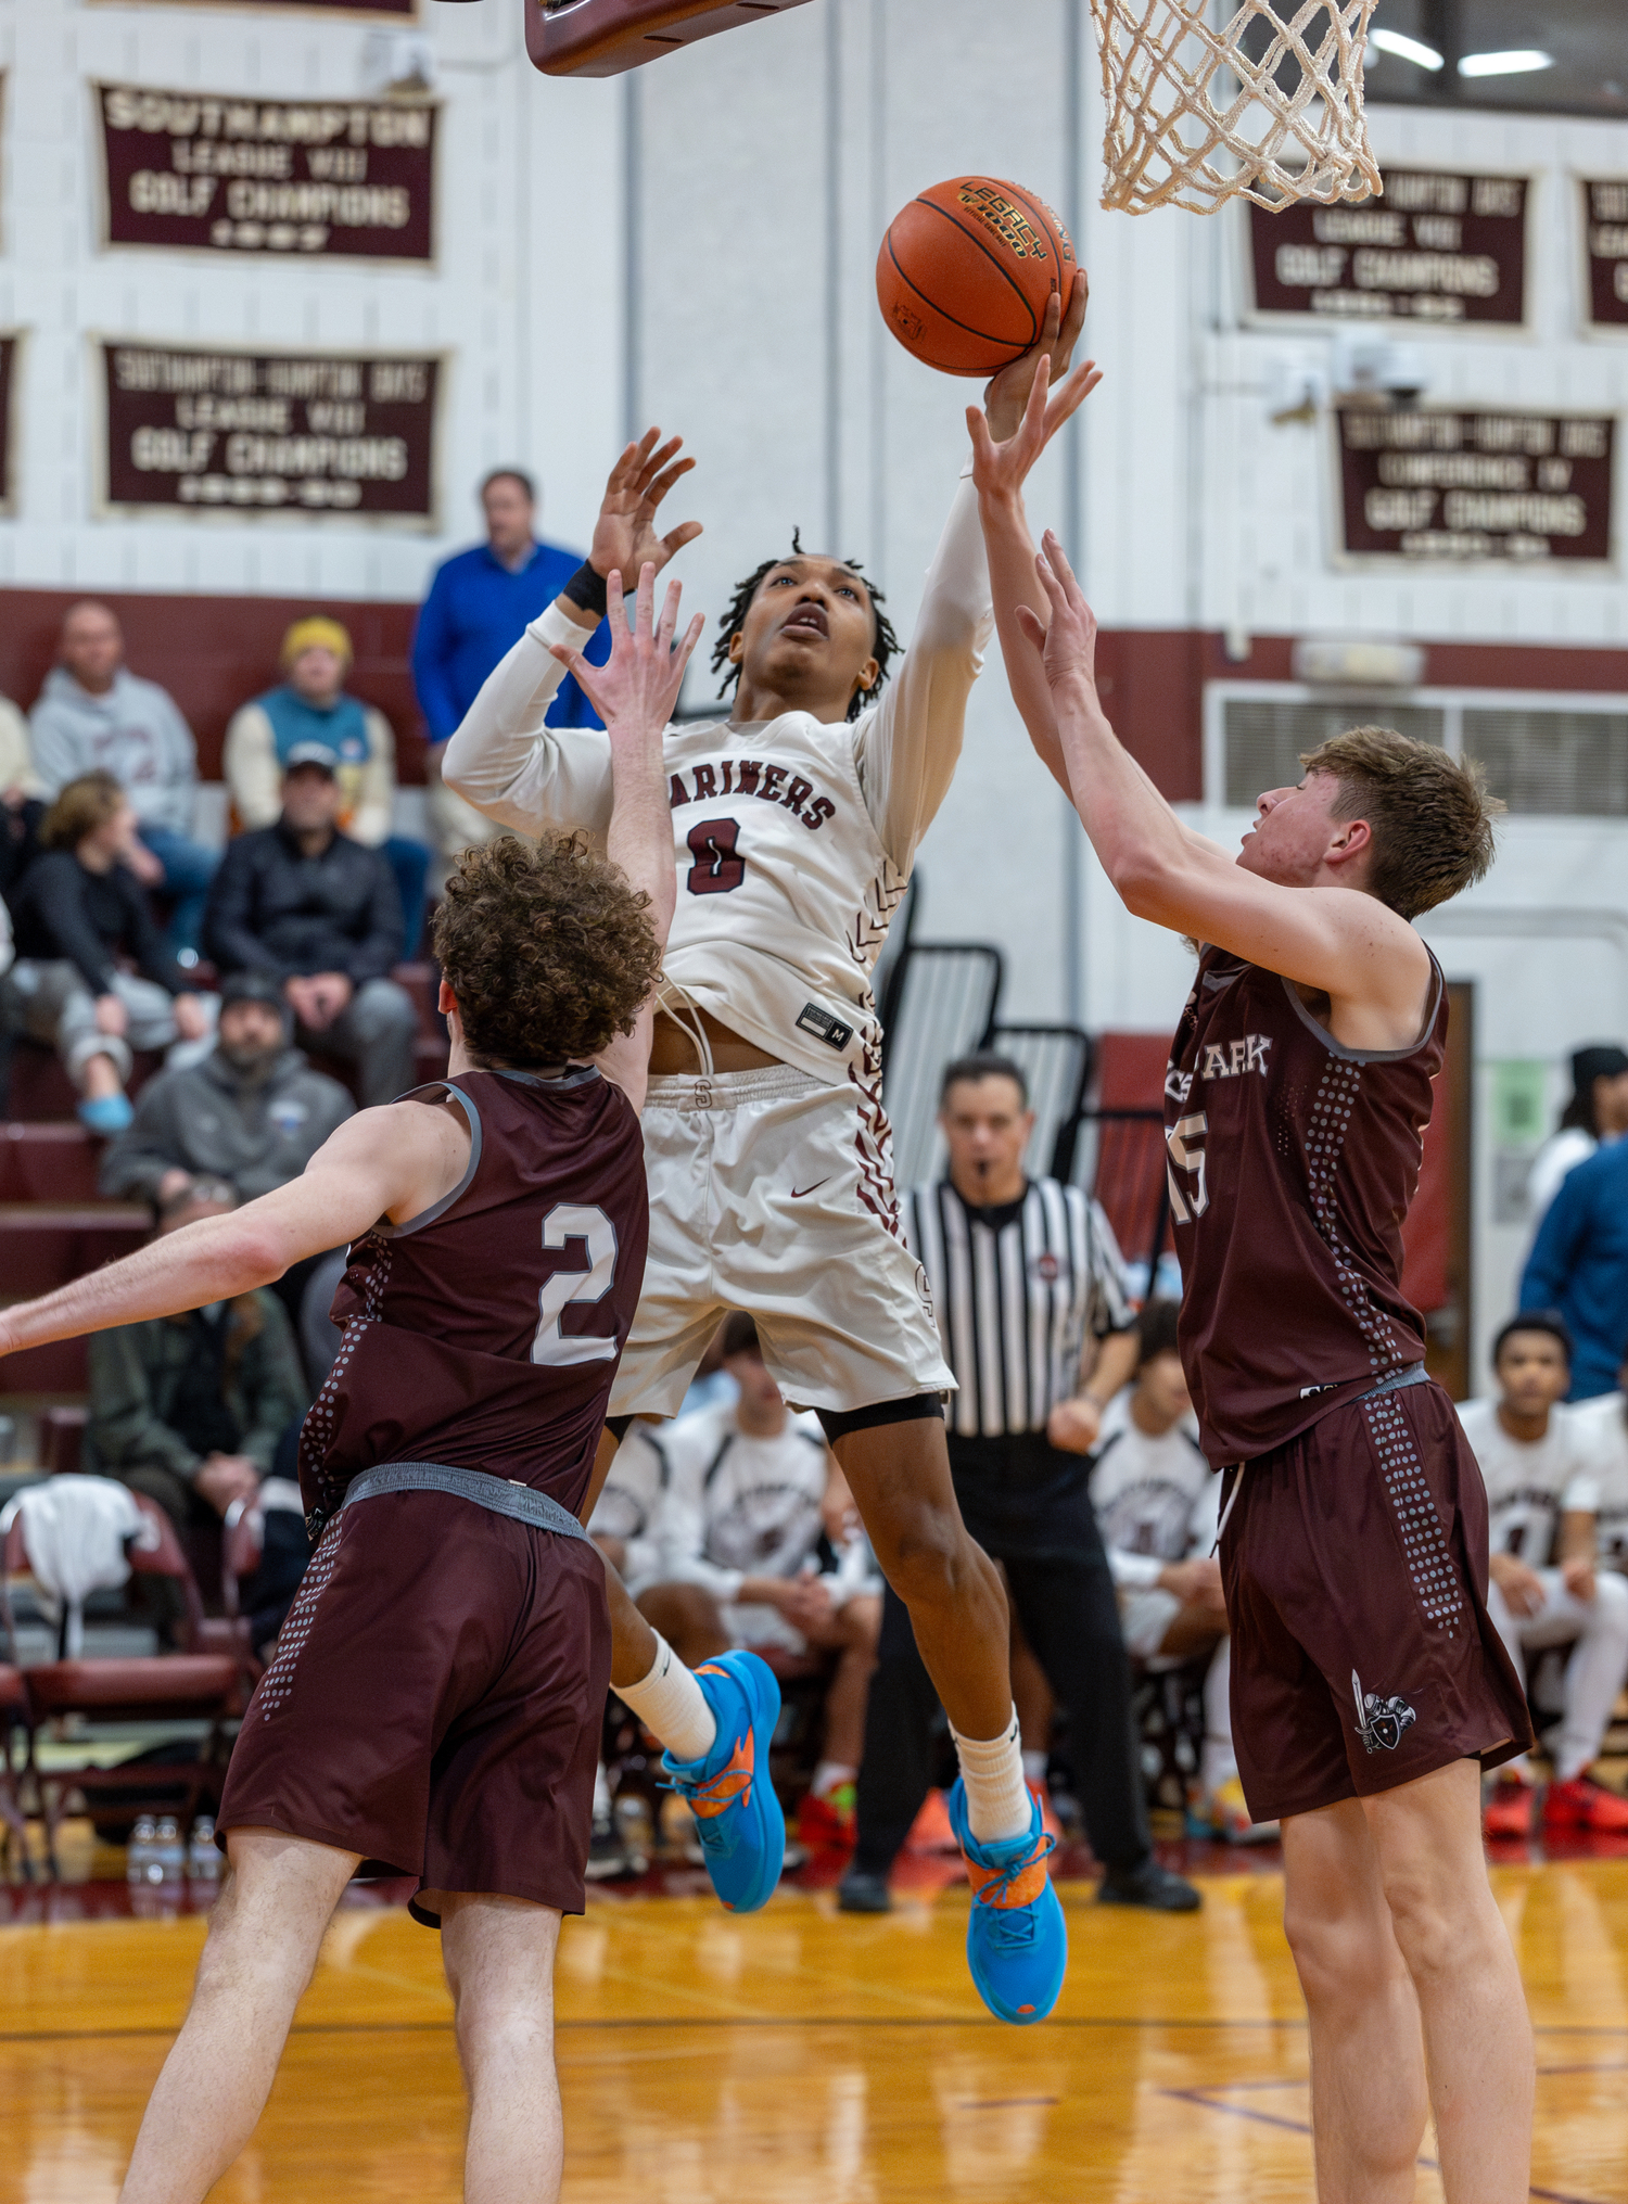
[{"label": "maroon banner with Southampton alone on its top line, upper left", "polygon": [[432,260],[436,108],[97,86],[104,245]]}]

